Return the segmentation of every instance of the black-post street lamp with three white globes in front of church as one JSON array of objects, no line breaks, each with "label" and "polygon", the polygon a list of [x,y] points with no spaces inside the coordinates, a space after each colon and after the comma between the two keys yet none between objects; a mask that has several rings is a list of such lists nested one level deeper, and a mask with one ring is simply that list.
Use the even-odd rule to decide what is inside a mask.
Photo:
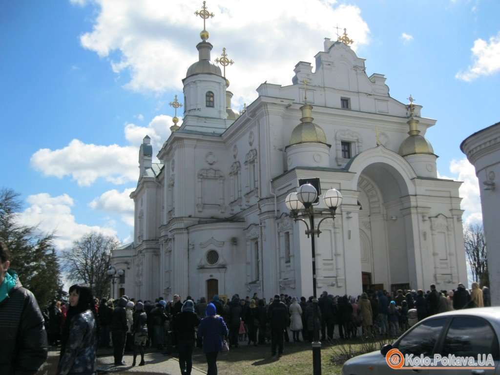
[{"label": "black-post street lamp with three white globes in front of church", "polygon": [[[319,179],[318,179],[319,186]],[[286,196],[285,205],[290,210],[290,217],[293,220],[302,221],[305,223],[307,230],[305,234],[311,238],[312,250],[312,311],[314,321],[314,333],[312,341],[312,373],[313,375],[321,375],[321,342],[319,341],[319,326],[317,326],[317,296],[316,296],[316,253],[314,249],[314,234],[319,237],[319,225],[327,218],[335,218],[335,210],[342,204],[342,194],[336,189],[329,189],[323,195],[323,202],[328,207],[327,209],[316,208],[314,209],[312,203],[317,198],[317,190],[310,183],[301,185],[297,192],[291,192]],[[324,216],[317,224],[317,229],[314,229],[314,215]],[[305,219],[309,219],[309,224]]]}]

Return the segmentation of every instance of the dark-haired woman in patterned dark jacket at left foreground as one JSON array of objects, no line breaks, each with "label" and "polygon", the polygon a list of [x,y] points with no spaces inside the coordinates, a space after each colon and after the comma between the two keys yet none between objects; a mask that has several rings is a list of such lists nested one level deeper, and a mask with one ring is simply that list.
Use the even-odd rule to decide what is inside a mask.
[{"label": "dark-haired woman in patterned dark jacket at left foreground", "polygon": [[57,375],[89,374],[95,370],[96,324],[94,302],[88,286],[69,288],[69,308],[62,329]]}]

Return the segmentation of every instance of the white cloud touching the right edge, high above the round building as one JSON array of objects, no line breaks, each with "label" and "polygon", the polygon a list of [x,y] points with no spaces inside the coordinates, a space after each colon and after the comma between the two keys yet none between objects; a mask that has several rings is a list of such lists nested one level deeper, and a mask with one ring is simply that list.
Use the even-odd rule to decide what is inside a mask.
[{"label": "white cloud touching the right edge, high above the round building", "polygon": [[474,41],[473,64],[465,72],[459,71],[455,78],[470,82],[483,75],[491,75],[500,70],[500,32],[486,42],[481,38]]}]

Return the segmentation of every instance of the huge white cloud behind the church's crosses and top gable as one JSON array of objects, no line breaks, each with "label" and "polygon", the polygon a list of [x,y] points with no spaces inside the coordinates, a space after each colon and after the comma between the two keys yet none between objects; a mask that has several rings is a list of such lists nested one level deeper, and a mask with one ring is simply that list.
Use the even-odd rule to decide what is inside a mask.
[{"label": "huge white cloud behind the church's crosses and top gable", "polygon": [[[193,13],[200,1],[95,2],[98,15],[92,30],[81,36],[82,46],[107,57],[116,73],[129,72],[126,86],[132,90],[180,90],[187,67],[198,58],[195,45],[202,20]],[[214,46],[212,60],[226,47],[235,61],[227,77],[237,104],[253,99],[255,88],[265,80],[290,84],[295,64],[313,61],[324,37],[336,38],[332,19],[340,19],[339,26],[347,28],[353,49],[368,42],[368,26],[355,5],[325,0],[227,4],[223,0],[207,4],[215,17],[207,19],[206,28]]]}]

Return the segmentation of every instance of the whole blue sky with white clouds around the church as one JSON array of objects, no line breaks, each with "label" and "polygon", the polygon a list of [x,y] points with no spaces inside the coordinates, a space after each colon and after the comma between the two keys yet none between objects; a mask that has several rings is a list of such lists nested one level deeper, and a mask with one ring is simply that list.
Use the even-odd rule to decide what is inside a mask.
[{"label": "whole blue sky with white clouds around the church", "polygon": [[[169,134],[181,78],[197,60],[201,1],[0,2],[0,186],[20,193],[20,220],[56,230],[57,246],[89,230],[128,241],[145,134]],[[465,181],[464,219],[480,220],[473,168],[459,150],[499,120],[500,2],[495,0],[208,1],[212,60],[227,48],[233,107],[265,80],[287,85],[346,27],[366,73],[411,94],[435,118],[426,138],[441,176]],[[306,6],[305,8],[303,6]],[[262,12],[262,9],[266,9]],[[180,113],[182,114],[182,113]]]}]

